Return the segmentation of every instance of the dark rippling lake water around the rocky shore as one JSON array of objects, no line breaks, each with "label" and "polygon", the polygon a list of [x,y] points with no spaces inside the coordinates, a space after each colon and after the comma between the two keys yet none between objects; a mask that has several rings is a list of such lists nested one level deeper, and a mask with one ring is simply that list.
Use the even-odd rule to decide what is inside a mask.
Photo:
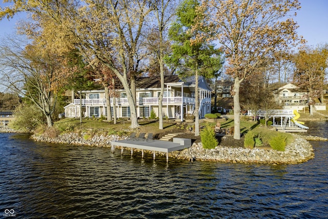
[{"label": "dark rippling lake water around the rocky shore", "polygon": [[[328,123],[306,124],[327,137]],[[328,142],[311,143],[297,165],[167,164],[0,133],[0,217],[327,218]]]}]

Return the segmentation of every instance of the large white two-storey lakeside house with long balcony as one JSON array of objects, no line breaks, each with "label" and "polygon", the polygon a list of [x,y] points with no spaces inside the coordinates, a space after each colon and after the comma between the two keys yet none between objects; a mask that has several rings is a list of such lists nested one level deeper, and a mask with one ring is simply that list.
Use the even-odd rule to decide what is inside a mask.
[{"label": "large white two-storey lakeside house with long balcony", "polygon": [[[162,101],[163,116],[181,118],[181,114],[194,114],[195,109],[195,77],[186,80],[178,76],[165,76],[165,91]],[[211,113],[212,89],[203,77],[199,77],[199,116]],[[119,83],[116,86],[116,115],[130,117],[130,107],[125,90]],[[83,91],[86,99],[82,99],[82,112],[85,117],[107,116],[105,90]],[[138,117],[149,117],[151,110],[158,116],[158,96],[160,93],[159,77],[139,77],[136,79],[136,105]],[[113,99],[110,99],[113,108]],[[65,106],[66,117],[79,117],[80,99]],[[112,111],[113,114],[113,111]]]}]

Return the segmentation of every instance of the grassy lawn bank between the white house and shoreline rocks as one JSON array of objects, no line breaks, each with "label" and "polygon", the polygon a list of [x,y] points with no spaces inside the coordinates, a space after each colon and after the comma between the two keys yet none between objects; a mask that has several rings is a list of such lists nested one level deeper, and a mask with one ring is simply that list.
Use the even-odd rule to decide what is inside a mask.
[{"label": "grassy lawn bank between the white house and shoreline rocks", "polygon": [[[60,133],[65,132],[78,132],[78,133],[87,133],[92,136],[94,134],[117,134],[117,135],[127,135],[129,136],[131,132],[136,132],[137,134],[140,132],[144,133],[153,133],[155,138],[160,138],[168,133],[179,133],[177,137],[185,137],[191,138],[192,142],[200,142],[200,136],[195,136],[193,131],[190,131],[190,128],[194,129],[194,123],[180,123],[175,120],[165,120],[163,121],[163,129],[158,129],[158,121],[157,120],[140,120],[138,129],[130,129],[131,123],[127,119],[120,119],[117,121],[117,124],[113,124],[113,122],[107,122],[104,120],[100,120],[99,118],[84,118],[82,123],[80,123],[79,119],[76,118],[64,118],[63,120],[57,121],[54,124],[54,127],[50,130],[46,130],[44,128],[40,128],[37,130],[39,134],[45,132],[48,135],[58,135]],[[204,127],[210,125],[215,127],[215,123],[209,123],[206,120],[200,120],[200,126]],[[226,119],[226,121],[221,122],[221,128],[229,128],[234,126],[234,120],[232,118]],[[201,129],[202,130],[202,129]],[[289,144],[294,141],[294,137],[288,133],[280,133],[272,129],[268,129],[263,125],[250,121],[248,117],[241,117],[240,121],[240,132],[241,135],[245,135],[249,131],[255,133],[255,135],[261,138],[263,142],[263,147],[269,147],[269,141],[272,137],[283,134],[286,136],[286,143]],[[48,133],[47,133],[48,132]],[[229,137],[231,139],[231,146],[243,146],[243,137],[241,141],[233,141],[233,137]],[[220,140],[219,140],[220,143]]]}]

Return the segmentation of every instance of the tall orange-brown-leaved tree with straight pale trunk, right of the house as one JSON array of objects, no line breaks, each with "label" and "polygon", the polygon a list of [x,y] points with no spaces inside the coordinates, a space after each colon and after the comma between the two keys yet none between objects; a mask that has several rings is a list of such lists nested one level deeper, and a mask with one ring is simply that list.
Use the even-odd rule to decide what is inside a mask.
[{"label": "tall orange-brown-leaved tree with straight pale trunk, right of the house", "polygon": [[[297,0],[210,0],[216,39],[234,78],[234,138],[240,139],[239,88],[263,60],[297,42],[297,25],[288,15],[300,8]],[[295,13],[296,14],[296,13]]]}]

